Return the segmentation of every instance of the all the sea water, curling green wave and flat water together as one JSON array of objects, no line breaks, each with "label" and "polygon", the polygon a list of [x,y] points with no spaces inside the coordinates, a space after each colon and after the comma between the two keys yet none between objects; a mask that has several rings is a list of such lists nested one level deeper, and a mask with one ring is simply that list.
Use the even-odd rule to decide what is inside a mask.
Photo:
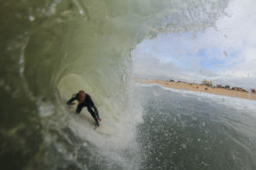
[{"label": "all the sea water, curling green wave and flat water together", "polygon": [[[133,82],[131,51],[227,0],[2,0],[0,168],[256,169],[255,102]],[[102,119],[65,105],[83,89]]]}]

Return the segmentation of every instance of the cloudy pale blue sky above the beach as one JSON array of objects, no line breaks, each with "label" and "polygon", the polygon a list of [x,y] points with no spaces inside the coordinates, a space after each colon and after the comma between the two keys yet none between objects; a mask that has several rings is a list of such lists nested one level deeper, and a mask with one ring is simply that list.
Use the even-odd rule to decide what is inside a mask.
[{"label": "cloudy pale blue sky above the beach", "polygon": [[135,76],[256,89],[256,2],[233,0],[215,27],[160,34],[132,51]]}]

